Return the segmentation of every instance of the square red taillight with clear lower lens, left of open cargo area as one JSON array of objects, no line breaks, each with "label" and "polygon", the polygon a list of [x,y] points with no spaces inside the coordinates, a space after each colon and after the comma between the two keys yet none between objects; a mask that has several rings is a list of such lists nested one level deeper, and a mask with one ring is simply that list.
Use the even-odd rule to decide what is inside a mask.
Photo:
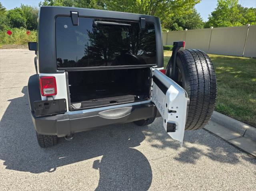
[{"label": "square red taillight with clear lower lens, left of open cargo area", "polygon": [[56,79],[53,76],[40,77],[40,89],[42,96],[57,94]]}]

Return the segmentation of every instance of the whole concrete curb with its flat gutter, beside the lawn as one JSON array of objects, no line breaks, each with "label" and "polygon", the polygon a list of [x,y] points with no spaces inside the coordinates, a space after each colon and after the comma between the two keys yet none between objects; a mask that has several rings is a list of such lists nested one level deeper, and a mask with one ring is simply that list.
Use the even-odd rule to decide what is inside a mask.
[{"label": "whole concrete curb with its flat gutter, beside the lawn", "polygon": [[256,128],[214,111],[204,129],[256,157]]}]

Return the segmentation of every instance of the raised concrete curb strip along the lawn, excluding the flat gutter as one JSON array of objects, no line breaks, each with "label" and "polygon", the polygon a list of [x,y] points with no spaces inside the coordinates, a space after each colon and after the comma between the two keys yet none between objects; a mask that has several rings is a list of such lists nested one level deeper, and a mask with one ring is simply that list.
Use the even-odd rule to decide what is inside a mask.
[{"label": "raised concrete curb strip along the lawn, excluding the flat gutter", "polygon": [[256,142],[256,128],[214,111],[211,120]]}]

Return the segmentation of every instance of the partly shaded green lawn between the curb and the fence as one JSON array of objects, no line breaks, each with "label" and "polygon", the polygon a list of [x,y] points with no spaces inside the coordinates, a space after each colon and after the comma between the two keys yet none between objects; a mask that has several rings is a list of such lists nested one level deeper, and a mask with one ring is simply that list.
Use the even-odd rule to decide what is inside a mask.
[{"label": "partly shaded green lawn between the curb and the fence", "polygon": [[[171,53],[164,51],[164,67]],[[215,110],[256,127],[256,59],[209,56],[217,77]]]}]

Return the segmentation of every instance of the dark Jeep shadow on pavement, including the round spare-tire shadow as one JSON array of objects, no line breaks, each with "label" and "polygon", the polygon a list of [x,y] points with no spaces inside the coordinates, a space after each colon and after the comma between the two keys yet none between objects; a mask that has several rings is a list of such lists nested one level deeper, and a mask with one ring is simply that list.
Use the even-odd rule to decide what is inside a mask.
[{"label": "dark Jeep shadow on pavement, including the round spare-tire shadow", "polygon": [[148,190],[152,182],[150,163],[133,148],[145,140],[142,131],[147,126],[113,125],[78,133],[70,142],[60,138],[56,146],[43,149],[37,144],[27,87],[22,93],[24,96],[8,100],[10,104],[0,122],[0,160],[4,160],[6,169],[53,172],[63,165],[102,156],[93,164],[100,171],[98,190]]}]

